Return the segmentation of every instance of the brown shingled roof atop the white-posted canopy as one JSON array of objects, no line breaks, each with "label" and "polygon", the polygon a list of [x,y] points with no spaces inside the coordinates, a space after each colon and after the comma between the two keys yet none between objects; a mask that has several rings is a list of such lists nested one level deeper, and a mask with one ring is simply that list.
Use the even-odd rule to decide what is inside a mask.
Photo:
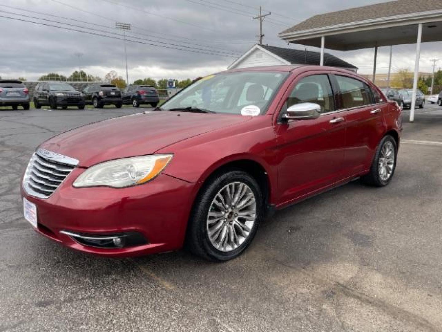
[{"label": "brown shingled roof atop the white-posted canopy", "polygon": [[280,35],[296,31],[331,27],[345,23],[354,23],[368,19],[379,19],[383,17],[407,15],[418,12],[430,12],[438,9],[442,9],[441,0],[390,1],[381,4],[372,4],[369,6],[351,8],[338,12],[315,15],[285,31],[282,31]]}]

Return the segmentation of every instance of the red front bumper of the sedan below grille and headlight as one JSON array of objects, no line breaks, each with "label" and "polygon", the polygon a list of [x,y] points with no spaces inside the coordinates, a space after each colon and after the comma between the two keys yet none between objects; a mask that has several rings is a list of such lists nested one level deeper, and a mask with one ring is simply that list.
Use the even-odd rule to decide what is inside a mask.
[{"label": "red front bumper of the sedan below grille and headlight", "polygon": [[[183,245],[195,184],[160,174],[144,185],[123,189],[74,188],[84,171],[76,168],[47,199],[22,195],[37,205],[42,235],[79,251],[107,257],[129,257],[177,250]],[[61,231],[107,235],[137,232],[147,244],[103,248],[84,245]]]}]

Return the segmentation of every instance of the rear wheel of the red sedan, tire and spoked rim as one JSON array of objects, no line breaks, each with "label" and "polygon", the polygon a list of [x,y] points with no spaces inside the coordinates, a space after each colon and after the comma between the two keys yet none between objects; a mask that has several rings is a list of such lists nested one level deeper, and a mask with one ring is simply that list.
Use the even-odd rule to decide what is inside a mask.
[{"label": "rear wheel of the red sedan, tire and spoked rim", "polygon": [[374,187],[388,185],[396,169],[397,146],[390,135],[384,136],[374,154],[370,172],[362,176],[362,181]]}]

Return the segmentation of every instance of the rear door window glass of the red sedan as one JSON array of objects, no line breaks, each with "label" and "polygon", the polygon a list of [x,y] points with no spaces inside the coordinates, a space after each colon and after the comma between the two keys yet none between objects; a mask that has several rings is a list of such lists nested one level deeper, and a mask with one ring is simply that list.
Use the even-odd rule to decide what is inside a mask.
[{"label": "rear door window glass of the red sedan", "polygon": [[343,108],[354,108],[372,104],[371,89],[364,82],[351,77],[336,75],[341,91]]}]

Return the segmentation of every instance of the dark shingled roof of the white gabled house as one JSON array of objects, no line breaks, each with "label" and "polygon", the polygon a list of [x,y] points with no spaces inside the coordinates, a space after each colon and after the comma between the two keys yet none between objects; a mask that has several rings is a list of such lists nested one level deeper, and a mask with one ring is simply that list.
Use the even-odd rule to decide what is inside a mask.
[{"label": "dark shingled roof of the white gabled house", "polygon": [[[268,46],[268,45],[258,45],[258,46],[277,55],[279,58],[286,60],[290,64],[319,65],[320,63],[321,55],[319,52],[294,50],[293,48]],[[324,66],[351,68],[351,69],[358,68],[328,53],[324,53]]]}]

